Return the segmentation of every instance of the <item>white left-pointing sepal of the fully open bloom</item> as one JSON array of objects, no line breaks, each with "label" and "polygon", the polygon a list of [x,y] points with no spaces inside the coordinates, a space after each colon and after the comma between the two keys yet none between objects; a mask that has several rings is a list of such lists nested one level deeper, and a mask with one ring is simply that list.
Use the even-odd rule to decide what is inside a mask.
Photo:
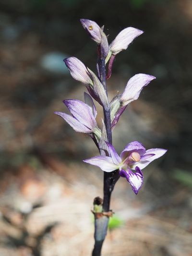
[{"label": "white left-pointing sepal of the fully open bloom", "polygon": [[107,171],[107,172],[111,172],[111,171],[115,171],[115,170],[119,169],[118,166],[113,163],[113,160],[110,157],[98,156],[98,157],[94,157],[94,158],[85,159],[83,161],[85,163],[96,165],[101,170]]}]

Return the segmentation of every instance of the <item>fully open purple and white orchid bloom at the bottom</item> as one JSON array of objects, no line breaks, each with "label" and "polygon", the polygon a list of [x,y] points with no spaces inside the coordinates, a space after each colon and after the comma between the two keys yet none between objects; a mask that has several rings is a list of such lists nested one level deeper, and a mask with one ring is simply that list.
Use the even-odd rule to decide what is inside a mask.
[{"label": "fully open purple and white orchid bloom at the bottom", "polygon": [[127,179],[135,194],[138,193],[144,181],[144,176],[141,170],[153,160],[160,158],[167,152],[166,149],[162,148],[145,150],[141,143],[133,141],[123,149],[119,156],[115,148],[108,142],[106,143],[108,145],[110,157],[98,156],[85,159],[84,162],[96,165],[101,170],[107,172],[119,170],[120,176]]}]

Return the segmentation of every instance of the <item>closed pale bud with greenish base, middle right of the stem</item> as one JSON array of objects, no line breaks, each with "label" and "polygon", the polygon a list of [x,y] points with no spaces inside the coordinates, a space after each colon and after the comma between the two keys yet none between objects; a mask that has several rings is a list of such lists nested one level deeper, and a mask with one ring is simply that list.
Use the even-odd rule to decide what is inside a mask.
[{"label": "closed pale bud with greenish base, middle right of the stem", "polygon": [[120,115],[126,109],[128,104],[133,100],[138,99],[144,86],[148,85],[154,79],[156,79],[156,77],[153,75],[135,74],[128,81],[123,93],[112,99],[110,103],[112,129],[119,121]]}]

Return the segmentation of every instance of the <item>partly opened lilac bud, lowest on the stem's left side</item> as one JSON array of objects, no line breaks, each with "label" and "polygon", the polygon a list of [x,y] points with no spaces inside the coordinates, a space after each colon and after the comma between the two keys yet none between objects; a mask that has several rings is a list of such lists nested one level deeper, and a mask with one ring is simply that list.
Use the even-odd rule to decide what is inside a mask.
[{"label": "partly opened lilac bud, lowest on the stem's left side", "polygon": [[85,134],[93,133],[98,139],[101,137],[101,131],[96,123],[96,111],[94,103],[92,103],[94,105],[93,111],[90,106],[81,100],[66,99],[63,100],[63,103],[66,105],[72,115],[68,115],[63,112],[54,112],[56,115],[62,117],[76,132]]}]

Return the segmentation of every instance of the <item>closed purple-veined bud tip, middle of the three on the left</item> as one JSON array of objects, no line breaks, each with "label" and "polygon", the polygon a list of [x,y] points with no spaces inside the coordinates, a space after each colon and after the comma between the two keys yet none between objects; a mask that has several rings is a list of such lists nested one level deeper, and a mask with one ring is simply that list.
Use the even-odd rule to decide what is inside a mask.
[{"label": "closed purple-veined bud tip, middle of the three on the left", "polygon": [[85,85],[93,85],[89,72],[82,61],[75,57],[66,58],[63,61],[75,80],[80,81]]}]

